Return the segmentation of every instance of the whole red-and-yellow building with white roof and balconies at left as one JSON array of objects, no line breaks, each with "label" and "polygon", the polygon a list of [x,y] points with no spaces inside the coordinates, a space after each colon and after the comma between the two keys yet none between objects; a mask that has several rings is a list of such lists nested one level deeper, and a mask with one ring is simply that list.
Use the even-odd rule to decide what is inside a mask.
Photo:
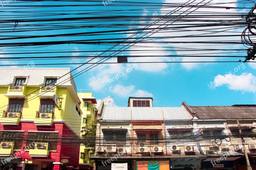
[{"label": "whole red-and-yellow building with white roof and balconies at left", "polygon": [[83,111],[69,68],[0,68],[0,101],[0,169],[78,169]]}]

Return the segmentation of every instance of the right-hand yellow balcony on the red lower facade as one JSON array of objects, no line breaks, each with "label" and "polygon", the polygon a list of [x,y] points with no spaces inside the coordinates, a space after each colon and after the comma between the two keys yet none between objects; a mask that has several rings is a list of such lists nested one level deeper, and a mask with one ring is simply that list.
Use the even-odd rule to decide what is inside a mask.
[{"label": "right-hand yellow balcony on the red lower facade", "polygon": [[48,157],[50,144],[45,142],[36,142],[35,146],[29,149],[29,156],[31,157]]}]

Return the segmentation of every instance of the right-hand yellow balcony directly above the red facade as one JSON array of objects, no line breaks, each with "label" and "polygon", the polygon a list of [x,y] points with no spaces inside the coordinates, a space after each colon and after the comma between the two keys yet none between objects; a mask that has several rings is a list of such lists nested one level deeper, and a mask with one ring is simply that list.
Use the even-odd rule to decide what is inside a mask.
[{"label": "right-hand yellow balcony directly above the red facade", "polygon": [[54,119],[53,112],[36,112],[36,118],[34,120],[35,125],[52,126]]}]

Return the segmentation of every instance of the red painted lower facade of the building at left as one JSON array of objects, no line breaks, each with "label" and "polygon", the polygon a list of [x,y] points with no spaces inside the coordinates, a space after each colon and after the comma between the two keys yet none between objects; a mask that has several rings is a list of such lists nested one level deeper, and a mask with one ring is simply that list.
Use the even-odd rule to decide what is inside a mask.
[{"label": "red painted lower facade of the building at left", "polygon": [[[49,166],[49,170],[60,170],[60,168],[67,169],[67,166],[73,166],[74,168],[79,167],[80,144],[77,143],[79,138],[64,123],[53,123],[52,126],[36,126],[34,122],[20,122],[18,126],[0,124],[0,130],[24,131],[24,140],[22,142],[22,147],[20,148],[21,151],[14,151],[14,154],[16,153],[18,154],[18,157],[22,158],[22,161],[25,161],[25,159],[47,159],[57,163]],[[48,157],[31,157],[29,151],[25,151],[28,131],[59,132],[57,151],[50,152]],[[62,159],[68,159],[68,163],[60,165]]]}]

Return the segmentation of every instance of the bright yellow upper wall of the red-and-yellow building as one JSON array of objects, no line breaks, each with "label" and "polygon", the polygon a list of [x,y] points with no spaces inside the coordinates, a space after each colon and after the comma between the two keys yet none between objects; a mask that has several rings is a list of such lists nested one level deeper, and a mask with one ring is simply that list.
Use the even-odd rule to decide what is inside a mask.
[{"label": "bright yellow upper wall of the red-and-yellow building", "polygon": [[[9,90],[8,87],[0,86],[0,101],[1,101],[1,106],[4,106],[3,108],[1,108],[1,110],[7,110],[7,105],[9,103],[9,99],[6,96],[4,96],[4,94],[24,94],[25,96],[28,95],[23,105],[21,119],[27,119],[27,120],[33,121],[36,118],[36,111],[39,111],[40,100],[41,100],[39,97],[37,97],[37,95],[40,92],[44,92],[44,91],[38,90],[39,88],[40,86],[38,87],[24,86],[23,90],[18,91],[18,90]],[[59,98],[63,98],[61,110],[59,110],[58,107],[55,107],[54,121],[65,120],[68,126],[77,134],[77,136],[79,136],[80,129],[81,129],[81,123],[80,123],[81,116],[79,116],[76,111],[77,102],[74,102],[74,100],[71,97],[71,94],[68,91],[68,88],[66,87],[65,88],[57,87],[54,91],[46,92],[43,95],[53,95],[53,94],[57,94]],[[1,115],[0,117],[2,117],[3,111],[0,112],[0,115]]]}]

